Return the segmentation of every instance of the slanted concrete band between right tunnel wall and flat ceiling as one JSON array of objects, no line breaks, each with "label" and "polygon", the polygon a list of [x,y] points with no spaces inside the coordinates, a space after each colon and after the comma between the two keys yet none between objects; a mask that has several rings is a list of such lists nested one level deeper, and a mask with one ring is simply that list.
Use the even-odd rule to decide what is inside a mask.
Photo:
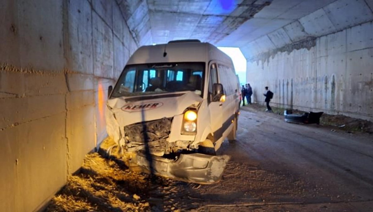
[{"label": "slanted concrete band between right tunnel wall and flat ceiling", "polygon": [[[275,1],[269,7],[276,5],[276,3],[278,4],[279,1]],[[373,12],[368,2],[356,0],[352,3],[348,0],[333,0],[332,3],[325,4],[324,7],[306,14],[287,25],[280,28],[277,25],[276,30],[269,31],[261,37],[253,39],[253,36],[250,36],[250,39],[253,40],[243,43],[240,49],[248,59],[255,59],[258,54],[264,52],[271,52],[271,54],[279,51],[283,52],[285,46],[287,47],[286,51],[289,52],[290,49],[291,52],[291,50],[299,49],[289,48],[294,46],[294,43],[304,43],[310,38],[322,37],[372,21]],[[297,5],[301,9],[305,9],[305,6],[308,6],[307,1]],[[266,9],[258,13],[258,16],[261,16],[261,13],[265,13]],[[266,24],[266,22],[262,24]],[[310,47],[305,45],[305,48],[309,49]]]}]

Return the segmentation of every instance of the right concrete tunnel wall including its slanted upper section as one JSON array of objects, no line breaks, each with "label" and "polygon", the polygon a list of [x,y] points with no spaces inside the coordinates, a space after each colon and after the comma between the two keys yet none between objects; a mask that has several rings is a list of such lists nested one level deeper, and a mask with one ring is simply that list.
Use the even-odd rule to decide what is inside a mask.
[{"label": "right concrete tunnel wall including its slanted upper section", "polygon": [[253,100],[373,121],[373,1],[338,0],[242,47]]}]

